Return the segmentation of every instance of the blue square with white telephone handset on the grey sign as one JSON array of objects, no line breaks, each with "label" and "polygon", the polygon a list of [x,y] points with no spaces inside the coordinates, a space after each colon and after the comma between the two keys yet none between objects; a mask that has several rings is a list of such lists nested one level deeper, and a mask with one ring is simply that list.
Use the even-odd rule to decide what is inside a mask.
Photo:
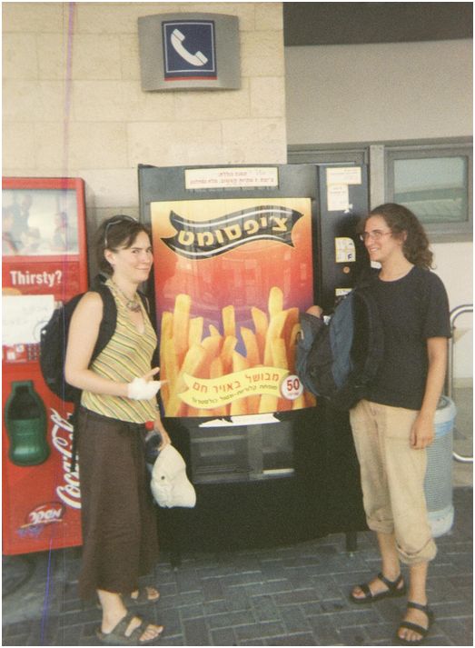
[{"label": "blue square with white telephone handset on the grey sign", "polygon": [[162,29],[166,81],[217,78],[213,20],[164,21]]}]

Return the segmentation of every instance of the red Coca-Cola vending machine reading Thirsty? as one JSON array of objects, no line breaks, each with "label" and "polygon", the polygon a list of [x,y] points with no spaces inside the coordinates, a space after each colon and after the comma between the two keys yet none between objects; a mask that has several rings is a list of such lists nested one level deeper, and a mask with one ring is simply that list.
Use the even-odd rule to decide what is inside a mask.
[{"label": "red Coca-Cola vending machine reading Thirsty?", "polygon": [[45,385],[39,336],[87,290],[84,181],[3,178],[2,197],[3,553],[17,554],[82,543],[72,404]]}]

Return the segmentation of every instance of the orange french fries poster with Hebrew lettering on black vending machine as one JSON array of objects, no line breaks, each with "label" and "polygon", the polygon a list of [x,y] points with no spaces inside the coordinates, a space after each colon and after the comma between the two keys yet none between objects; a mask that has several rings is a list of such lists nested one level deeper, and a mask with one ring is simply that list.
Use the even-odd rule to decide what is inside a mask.
[{"label": "orange french fries poster with Hebrew lettering on black vending machine", "polygon": [[315,404],[294,363],[313,298],[311,210],[309,198],[151,204],[167,416]]}]

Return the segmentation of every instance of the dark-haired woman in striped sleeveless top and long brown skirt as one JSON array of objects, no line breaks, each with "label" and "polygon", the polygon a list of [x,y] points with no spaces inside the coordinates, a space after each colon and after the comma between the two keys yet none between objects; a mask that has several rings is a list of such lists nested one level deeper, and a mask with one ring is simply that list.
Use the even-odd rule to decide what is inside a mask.
[{"label": "dark-haired woman in striped sleeveless top and long brown skirt", "polygon": [[158,555],[156,519],[145,464],[145,424],[153,421],[170,443],[156,406],[160,382],[151,369],[157,339],[137,288],[153,264],[150,234],[130,216],[113,216],[96,234],[105,285],[117,307],[115,332],[90,364],[103,317],[100,294],[84,294],[71,320],[65,377],[82,390],[78,414],[83,563],[81,597],[97,593],[103,610],[101,643],[152,643],[162,625],[144,623],[125,602],[156,601],[154,587],[139,590]]}]

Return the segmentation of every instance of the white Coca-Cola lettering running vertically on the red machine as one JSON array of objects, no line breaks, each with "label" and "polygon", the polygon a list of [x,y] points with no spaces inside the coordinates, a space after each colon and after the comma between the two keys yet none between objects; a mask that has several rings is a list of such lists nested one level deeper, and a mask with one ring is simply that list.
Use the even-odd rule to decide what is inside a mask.
[{"label": "white Coca-Cola lettering running vertically on the red machine", "polygon": [[79,490],[79,469],[71,471],[73,458],[73,425],[51,407],[51,442],[63,460],[63,484],[56,487],[59,499],[74,509],[81,508],[81,491]]}]

